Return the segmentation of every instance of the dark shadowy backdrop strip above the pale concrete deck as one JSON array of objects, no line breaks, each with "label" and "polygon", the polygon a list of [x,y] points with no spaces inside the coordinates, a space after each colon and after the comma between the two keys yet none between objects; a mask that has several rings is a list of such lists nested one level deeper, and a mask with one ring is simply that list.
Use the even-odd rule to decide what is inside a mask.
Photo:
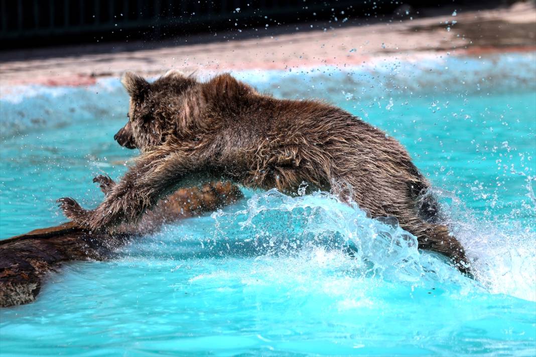
[{"label": "dark shadowy backdrop strip above the pale concrete deck", "polygon": [[363,25],[508,3],[508,0],[0,0],[0,41],[2,50],[139,39],[154,41],[220,30],[235,29],[238,34],[239,28],[266,24],[271,29],[311,21],[340,26],[347,18],[353,24]]}]

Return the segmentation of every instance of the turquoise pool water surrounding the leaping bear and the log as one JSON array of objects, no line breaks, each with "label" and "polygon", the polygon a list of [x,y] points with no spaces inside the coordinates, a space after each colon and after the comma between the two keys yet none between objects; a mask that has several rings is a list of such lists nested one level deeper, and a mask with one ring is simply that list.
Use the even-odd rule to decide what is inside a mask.
[{"label": "turquoise pool water surrounding the leaping bear and the log", "polygon": [[[477,279],[329,193],[243,189],[0,310],[2,356],[536,354],[534,53],[235,75],[399,139]],[[119,177],[134,154],[112,139],[127,101],[117,80],[3,93],[1,239],[63,222],[59,197],[99,202],[92,177]]]}]

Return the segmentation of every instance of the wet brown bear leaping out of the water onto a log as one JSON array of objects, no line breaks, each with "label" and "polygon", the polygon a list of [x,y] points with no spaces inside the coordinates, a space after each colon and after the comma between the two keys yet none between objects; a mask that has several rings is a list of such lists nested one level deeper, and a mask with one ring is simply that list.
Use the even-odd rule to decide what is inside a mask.
[{"label": "wet brown bear leaping out of the water onto a log", "polygon": [[[200,82],[171,71],[153,83],[125,73],[129,121],[115,139],[141,155],[106,199],[85,210],[59,199],[64,214],[92,230],[135,222],[163,196],[202,176],[296,193],[302,183],[353,200],[372,217],[394,216],[419,247],[451,258],[463,247],[433,223],[437,204],[400,143],[360,118],[318,101],[260,94],[229,74]],[[349,188],[349,189],[347,189]]]}]

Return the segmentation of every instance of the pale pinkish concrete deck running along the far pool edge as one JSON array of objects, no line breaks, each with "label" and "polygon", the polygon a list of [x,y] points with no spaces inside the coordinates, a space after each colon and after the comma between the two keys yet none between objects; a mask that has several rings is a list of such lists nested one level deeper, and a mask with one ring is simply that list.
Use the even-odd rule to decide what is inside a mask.
[{"label": "pale pinkish concrete deck running along the far pool edge", "polygon": [[120,77],[125,70],[144,75],[169,69],[288,70],[536,50],[534,2],[364,25],[358,25],[362,19],[343,20],[281,26],[270,35],[260,35],[265,31],[260,28],[187,39],[6,51],[0,54],[0,91],[32,84],[91,85],[98,78]]}]

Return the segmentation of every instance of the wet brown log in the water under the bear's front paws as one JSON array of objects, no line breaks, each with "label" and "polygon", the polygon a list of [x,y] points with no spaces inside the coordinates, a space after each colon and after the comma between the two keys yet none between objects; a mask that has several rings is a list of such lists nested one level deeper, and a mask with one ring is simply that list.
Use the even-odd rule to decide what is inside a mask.
[{"label": "wet brown log in the water under the bear's front paws", "polygon": [[46,276],[64,262],[110,259],[133,237],[241,197],[240,189],[230,183],[210,183],[178,190],[147,212],[139,224],[120,227],[116,233],[90,232],[68,222],[0,240],[0,307],[34,301]]}]

